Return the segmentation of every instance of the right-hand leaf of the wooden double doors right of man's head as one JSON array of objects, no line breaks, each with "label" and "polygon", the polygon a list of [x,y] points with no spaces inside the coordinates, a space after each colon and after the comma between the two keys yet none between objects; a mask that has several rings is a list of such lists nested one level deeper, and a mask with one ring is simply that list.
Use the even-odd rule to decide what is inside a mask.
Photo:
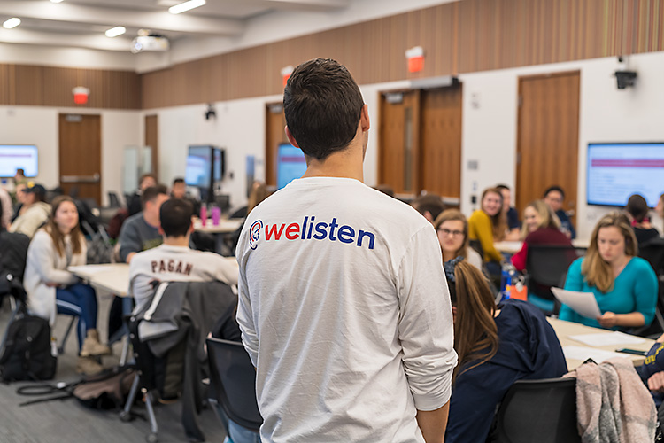
[{"label": "right-hand leaf of the wooden double doors right of man's head", "polygon": [[421,92],[421,188],[461,196],[461,85]]}]

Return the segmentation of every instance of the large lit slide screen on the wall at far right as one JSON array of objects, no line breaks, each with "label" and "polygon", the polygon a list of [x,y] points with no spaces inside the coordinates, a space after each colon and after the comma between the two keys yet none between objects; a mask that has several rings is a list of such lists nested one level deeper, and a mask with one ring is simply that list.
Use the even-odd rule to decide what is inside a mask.
[{"label": "large lit slide screen on the wall at far right", "polygon": [[632,194],[657,205],[664,192],[664,143],[588,144],[589,205],[625,206]]}]

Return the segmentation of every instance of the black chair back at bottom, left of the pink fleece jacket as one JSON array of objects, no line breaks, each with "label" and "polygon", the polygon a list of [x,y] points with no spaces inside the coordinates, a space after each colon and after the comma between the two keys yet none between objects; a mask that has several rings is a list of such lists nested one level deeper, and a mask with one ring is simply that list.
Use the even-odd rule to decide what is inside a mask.
[{"label": "black chair back at bottom, left of the pink fleece jacket", "polygon": [[498,408],[490,443],[580,443],[576,379],[520,380]]}]

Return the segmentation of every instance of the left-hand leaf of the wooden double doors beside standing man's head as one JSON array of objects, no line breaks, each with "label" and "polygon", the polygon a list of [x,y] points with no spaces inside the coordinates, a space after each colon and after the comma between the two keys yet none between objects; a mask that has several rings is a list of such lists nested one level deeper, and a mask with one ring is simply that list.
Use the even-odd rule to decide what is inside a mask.
[{"label": "left-hand leaf of the wooden double doors beside standing man's head", "polygon": [[421,190],[420,91],[381,95],[378,181],[397,194]]}]

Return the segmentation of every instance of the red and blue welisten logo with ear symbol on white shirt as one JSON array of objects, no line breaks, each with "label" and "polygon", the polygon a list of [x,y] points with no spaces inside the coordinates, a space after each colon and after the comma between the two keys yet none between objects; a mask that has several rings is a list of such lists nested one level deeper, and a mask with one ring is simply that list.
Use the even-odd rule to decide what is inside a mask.
[{"label": "red and blue welisten logo with ear symbol on white shirt", "polygon": [[[315,222],[316,217],[306,216],[301,223],[266,223],[257,220],[251,223],[249,228],[249,247],[255,250],[259,247],[261,232],[265,234],[265,241],[286,240],[329,240],[331,242],[339,241],[348,245],[359,247],[367,246],[368,249],[374,249],[375,234],[364,229],[355,229],[349,225],[340,225],[336,217],[332,221]],[[337,229],[338,228],[338,229]]]}]

